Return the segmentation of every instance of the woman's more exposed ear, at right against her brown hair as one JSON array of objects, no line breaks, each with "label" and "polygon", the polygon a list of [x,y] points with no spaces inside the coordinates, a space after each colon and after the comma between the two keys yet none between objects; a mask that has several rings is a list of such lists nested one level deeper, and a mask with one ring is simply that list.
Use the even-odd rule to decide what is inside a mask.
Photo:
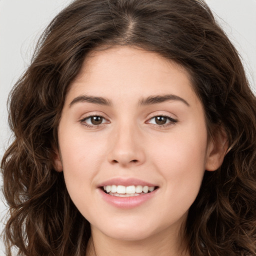
[{"label": "woman's more exposed ear, at right against her brown hair", "polygon": [[208,141],[205,169],[216,170],[223,162],[228,149],[228,139],[222,126],[214,130],[212,137]]}]

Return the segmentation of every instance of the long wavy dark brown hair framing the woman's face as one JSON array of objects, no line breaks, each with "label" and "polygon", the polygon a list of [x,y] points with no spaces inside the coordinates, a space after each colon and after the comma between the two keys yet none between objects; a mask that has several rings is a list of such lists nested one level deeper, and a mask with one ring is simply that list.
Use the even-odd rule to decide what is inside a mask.
[{"label": "long wavy dark brown hair framing the woman's face", "polygon": [[202,0],[76,0],[41,36],[30,66],[9,96],[14,140],[1,168],[9,205],[6,253],[85,254],[88,221],[54,170],[57,126],[68,85],[86,54],[102,45],[133,45],[184,66],[200,98],[209,134],[221,125],[229,151],[205,171],[189,209],[192,256],[256,253],[256,99],[238,54]]}]

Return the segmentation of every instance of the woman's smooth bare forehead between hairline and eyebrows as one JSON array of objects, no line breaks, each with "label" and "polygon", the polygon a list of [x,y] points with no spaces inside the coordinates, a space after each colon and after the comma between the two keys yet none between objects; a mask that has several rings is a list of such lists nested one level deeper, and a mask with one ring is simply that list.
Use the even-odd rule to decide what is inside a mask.
[{"label": "woman's smooth bare forehead between hairline and eyebrows", "polygon": [[172,90],[193,89],[189,73],[176,62],[144,49],[115,46],[91,51],[70,84],[69,92],[108,91],[114,96],[129,89],[134,95],[142,91],[159,94],[166,93],[171,85],[176,85]]}]

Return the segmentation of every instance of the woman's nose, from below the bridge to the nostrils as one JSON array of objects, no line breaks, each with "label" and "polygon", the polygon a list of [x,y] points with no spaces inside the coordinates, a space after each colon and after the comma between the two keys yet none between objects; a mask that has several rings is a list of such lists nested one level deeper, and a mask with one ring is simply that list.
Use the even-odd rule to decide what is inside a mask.
[{"label": "woman's nose, from below the bridge to the nostrils", "polygon": [[135,125],[122,125],[113,130],[108,161],[123,167],[140,165],[145,161],[142,136]]}]

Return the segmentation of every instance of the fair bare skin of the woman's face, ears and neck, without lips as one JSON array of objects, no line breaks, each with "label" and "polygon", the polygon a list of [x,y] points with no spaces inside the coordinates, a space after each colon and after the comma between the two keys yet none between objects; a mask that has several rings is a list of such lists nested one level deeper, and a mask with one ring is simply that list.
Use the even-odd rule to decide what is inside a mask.
[{"label": "fair bare skin of the woman's face, ears and neck, without lips", "polygon": [[[175,98],[142,100],[170,94]],[[87,102],[84,95],[109,104]],[[162,115],[166,123],[156,123]],[[102,122],[93,125],[89,116]],[[133,47],[91,52],[67,92],[58,141],[56,169],[91,224],[86,255],[189,255],[180,251],[186,245],[180,230],[205,169],[222,162],[225,137],[208,138],[186,70]],[[99,192],[110,178],[138,178],[158,189],[136,207],[119,208]]]}]

